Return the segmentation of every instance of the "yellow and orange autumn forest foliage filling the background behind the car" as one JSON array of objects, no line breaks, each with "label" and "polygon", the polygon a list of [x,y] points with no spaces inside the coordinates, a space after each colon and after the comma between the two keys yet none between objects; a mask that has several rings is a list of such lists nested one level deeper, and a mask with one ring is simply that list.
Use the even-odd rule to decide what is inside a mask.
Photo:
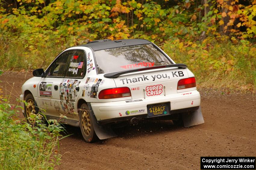
[{"label": "yellow and orange autumn forest foliage filling the background behind the car", "polygon": [[[70,46],[96,39],[144,38],[174,56],[182,53],[183,63],[197,61],[193,67],[209,73],[207,77],[217,69],[225,75],[221,80],[234,74],[229,78],[238,81],[242,76],[235,75],[243,75],[248,67],[252,73],[242,84],[254,86],[255,11],[256,0],[0,1],[0,68],[45,68]],[[196,59],[186,53],[191,50],[198,55]]]}]

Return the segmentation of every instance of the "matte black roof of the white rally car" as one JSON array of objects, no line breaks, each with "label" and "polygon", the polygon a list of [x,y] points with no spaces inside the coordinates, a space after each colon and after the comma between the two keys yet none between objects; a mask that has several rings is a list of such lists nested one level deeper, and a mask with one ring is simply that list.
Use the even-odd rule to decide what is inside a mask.
[{"label": "matte black roof of the white rally car", "polygon": [[123,39],[123,40],[95,40],[87,44],[80,45],[92,48],[94,51],[101,49],[117,48],[123,46],[134,46],[141,44],[151,44],[150,41],[144,39]]}]

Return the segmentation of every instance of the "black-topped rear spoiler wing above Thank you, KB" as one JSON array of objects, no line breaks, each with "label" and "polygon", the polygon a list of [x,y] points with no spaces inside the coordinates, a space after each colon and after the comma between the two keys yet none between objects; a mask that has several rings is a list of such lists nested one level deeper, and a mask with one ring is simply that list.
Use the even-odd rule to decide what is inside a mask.
[{"label": "black-topped rear spoiler wing above Thank you, KB", "polygon": [[145,67],[145,68],[138,68],[138,69],[133,69],[133,70],[125,70],[125,71],[118,71],[118,72],[113,72],[113,73],[106,73],[106,74],[104,74],[104,77],[117,78],[120,75],[127,74],[127,73],[134,73],[134,72],[138,72],[138,71],[152,70],[152,69],[158,69],[158,68],[168,68],[168,67],[178,67],[178,68],[185,69],[188,66],[186,64],[170,64],[170,65],[164,65],[164,66]]}]

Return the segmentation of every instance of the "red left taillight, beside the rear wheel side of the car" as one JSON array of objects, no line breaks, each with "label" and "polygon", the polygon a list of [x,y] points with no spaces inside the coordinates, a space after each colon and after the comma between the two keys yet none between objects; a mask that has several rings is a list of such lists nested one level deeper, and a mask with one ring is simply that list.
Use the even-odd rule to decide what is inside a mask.
[{"label": "red left taillight, beside the rear wheel side of the car", "polygon": [[108,88],[101,90],[99,99],[115,99],[121,97],[130,97],[131,91],[128,87]]}]

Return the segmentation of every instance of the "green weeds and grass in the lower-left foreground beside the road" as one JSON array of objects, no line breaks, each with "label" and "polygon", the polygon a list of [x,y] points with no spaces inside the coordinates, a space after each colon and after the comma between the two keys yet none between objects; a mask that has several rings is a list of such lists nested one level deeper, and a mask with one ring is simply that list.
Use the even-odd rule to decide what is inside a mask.
[{"label": "green weeds and grass in the lower-left foreground beside the road", "polygon": [[55,120],[46,126],[41,115],[31,115],[33,124],[14,120],[17,108],[0,103],[0,169],[53,169],[60,161],[57,146],[63,128]]}]

